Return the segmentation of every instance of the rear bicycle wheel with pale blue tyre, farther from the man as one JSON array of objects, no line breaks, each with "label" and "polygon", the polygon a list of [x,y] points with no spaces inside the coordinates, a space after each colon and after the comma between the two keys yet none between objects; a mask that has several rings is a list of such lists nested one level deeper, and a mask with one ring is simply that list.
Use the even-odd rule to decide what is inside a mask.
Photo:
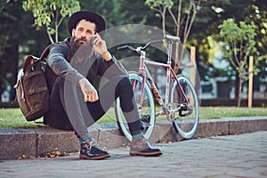
[{"label": "rear bicycle wheel with pale blue tyre, farther from the man", "polygon": [[[177,109],[171,117],[174,119],[174,129],[184,139],[190,139],[198,130],[199,107],[198,97],[193,85],[187,77],[178,75],[178,82],[182,86],[184,95],[181,92],[177,81],[171,85],[170,109]],[[185,97],[189,101],[186,101]]]}]

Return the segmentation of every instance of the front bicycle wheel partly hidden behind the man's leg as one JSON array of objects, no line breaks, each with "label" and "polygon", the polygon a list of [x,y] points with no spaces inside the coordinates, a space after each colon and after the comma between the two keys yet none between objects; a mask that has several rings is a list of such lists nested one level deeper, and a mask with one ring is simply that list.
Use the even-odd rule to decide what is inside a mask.
[{"label": "front bicycle wheel partly hidden behind the man's leg", "polygon": [[[143,134],[145,138],[150,138],[155,124],[155,106],[153,95],[150,91],[149,85],[145,83],[143,97],[141,98],[142,77],[139,76],[136,72],[129,72],[129,78],[133,84],[134,98],[137,102],[140,116],[142,117]],[[115,102],[115,114],[117,118],[117,125],[121,134],[123,134],[127,138],[127,140],[131,142],[132,135],[129,132],[127,122],[120,108],[119,99],[117,99],[117,101]]]}]

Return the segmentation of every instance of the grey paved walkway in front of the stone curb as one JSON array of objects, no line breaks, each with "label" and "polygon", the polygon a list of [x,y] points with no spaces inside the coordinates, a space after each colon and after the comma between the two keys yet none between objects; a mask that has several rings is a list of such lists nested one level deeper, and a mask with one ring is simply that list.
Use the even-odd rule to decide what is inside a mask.
[{"label": "grey paved walkway in front of the stone curb", "polygon": [[109,150],[110,158],[68,157],[1,160],[0,178],[266,178],[267,131],[157,143],[160,157],[131,157],[129,148]]}]

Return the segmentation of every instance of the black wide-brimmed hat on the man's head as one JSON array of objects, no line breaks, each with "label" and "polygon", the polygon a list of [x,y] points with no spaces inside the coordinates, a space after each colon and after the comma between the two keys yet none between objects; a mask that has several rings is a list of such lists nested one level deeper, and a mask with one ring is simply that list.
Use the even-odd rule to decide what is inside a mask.
[{"label": "black wide-brimmed hat on the man's head", "polygon": [[77,22],[83,19],[90,20],[93,23],[95,23],[97,26],[96,32],[98,33],[106,29],[106,20],[100,14],[95,12],[81,11],[81,12],[75,12],[69,17],[68,29],[70,35],[72,29],[76,28]]}]

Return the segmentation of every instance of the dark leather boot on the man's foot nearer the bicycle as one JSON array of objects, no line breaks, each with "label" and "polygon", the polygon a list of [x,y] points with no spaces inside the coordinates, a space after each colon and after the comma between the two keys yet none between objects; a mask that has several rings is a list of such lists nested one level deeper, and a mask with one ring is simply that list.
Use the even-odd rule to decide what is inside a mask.
[{"label": "dark leather boot on the man's foot nearer the bicycle", "polygon": [[159,155],[162,155],[162,151],[159,149],[153,149],[150,146],[150,142],[142,135],[138,138],[133,137],[133,141],[131,142],[130,146],[130,155],[157,157]]}]

